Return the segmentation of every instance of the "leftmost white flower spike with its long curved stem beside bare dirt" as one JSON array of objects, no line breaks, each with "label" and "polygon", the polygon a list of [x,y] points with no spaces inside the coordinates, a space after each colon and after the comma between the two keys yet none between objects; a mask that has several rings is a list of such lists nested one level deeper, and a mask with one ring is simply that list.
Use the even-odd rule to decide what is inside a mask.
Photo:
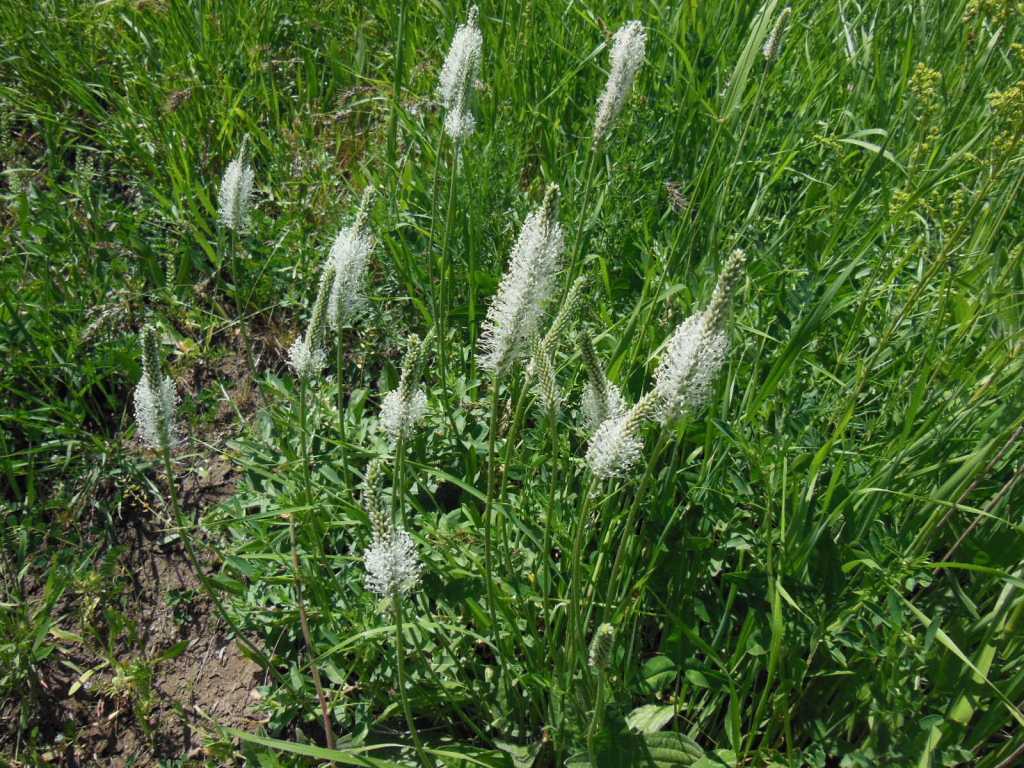
[{"label": "leftmost white flower spike with its long curved stem beside bare dirt", "polygon": [[[173,406],[176,401],[174,382],[170,377],[163,376],[162,368],[160,340],[157,329],[153,326],[146,326],[142,330],[142,378],[135,390],[135,418],[138,421],[142,440],[146,445],[160,453],[164,464],[164,472],[167,475],[167,488],[171,497],[171,511],[181,531],[181,542],[184,545],[188,563],[196,572],[196,578],[199,579],[203,591],[210,599],[220,618],[231,628],[231,632],[238,638],[239,642],[253,654],[263,669],[274,674],[270,659],[243,634],[238,623],[231,618],[230,614],[224,608],[219,595],[214,591],[213,586],[203,571],[203,567],[200,565],[199,556],[196,554],[196,547],[191,540],[191,525],[181,509],[177,483],[174,479],[174,462],[171,456],[171,450],[174,445]],[[158,385],[155,382],[160,382],[160,384]]]}]

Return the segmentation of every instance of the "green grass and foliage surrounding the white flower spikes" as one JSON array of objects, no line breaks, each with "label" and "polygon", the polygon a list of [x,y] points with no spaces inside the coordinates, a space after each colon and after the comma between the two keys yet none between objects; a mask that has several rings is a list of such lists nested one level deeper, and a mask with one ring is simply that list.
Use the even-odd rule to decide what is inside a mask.
[{"label": "green grass and foliage surrounding the white flower spikes", "polygon": [[[486,449],[471,345],[525,212],[554,181],[569,250],[593,278],[583,324],[632,398],[675,324],[707,300],[724,255],[742,246],[750,256],[727,370],[643,501],[612,709],[671,707],[670,728],[726,763],[1015,764],[1019,9],[798,0],[767,68],[759,40],[778,7],[481,4],[478,131],[443,227],[452,376],[447,387],[427,379],[458,431],[437,416],[411,459],[428,561],[413,698],[436,739],[493,751],[536,742],[547,722],[534,711],[553,684],[543,654],[514,673],[516,705],[494,695],[492,659],[474,645],[486,627],[473,607],[479,541],[465,510],[484,487]],[[374,415],[400,339],[435,325],[426,260],[444,223],[435,168],[446,191],[451,146],[433,93],[464,14],[409,4],[391,164],[397,2],[0,1],[0,687],[17,691],[70,652],[78,641],[61,633],[78,634],[86,617],[69,605],[116,561],[136,496],[162,503],[152,462],[130,443],[128,406],[134,334],[155,318],[172,373],[188,382],[182,464],[212,452],[244,470],[236,499],[203,509],[202,523],[232,610],[290,659],[264,691],[268,728],[315,733],[281,517],[299,476],[284,349],[326,248],[374,183],[373,309],[347,337],[348,438],[361,473],[385,450]],[[605,46],[628,18],[648,30],[648,60],[588,196]],[[254,233],[228,291],[216,190],[245,134]],[[240,291],[241,317],[227,298]],[[232,368],[243,328],[257,339],[254,384]],[[562,364],[578,392],[578,361]],[[246,387],[259,408],[218,424]],[[365,516],[341,480],[329,389],[322,399],[317,643],[333,690],[358,682],[336,698],[339,730],[352,743],[388,740],[401,726],[375,635],[383,624],[354,558]],[[574,414],[563,420],[564,447],[580,456]],[[531,479],[549,468],[543,427],[527,425],[522,439],[510,472],[526,520],[524,579],[506,586],[528,599],[525,577],[543,557],[528,546],[530,515],[547,494]],[[614,532],[622,520],[606,524]],[[42,749],[52,734],[33,707],[18,717],[22,743]]]}]

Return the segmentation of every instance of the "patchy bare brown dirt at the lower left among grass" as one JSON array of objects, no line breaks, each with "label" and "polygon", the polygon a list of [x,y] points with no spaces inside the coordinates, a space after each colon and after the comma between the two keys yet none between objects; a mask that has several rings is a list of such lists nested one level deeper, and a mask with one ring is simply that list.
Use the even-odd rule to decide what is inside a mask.
[{"label": "patchy bare brown dirt at the lower left among grass", "polygon": [[[246,416],[258,407],[253,387],[240,381],[240,364],[231,357],[222,360],[217,371],[193,371],[179,380],[193,392],[213,379],[232,382],[228,393],[233,404],[222,401],[218,407],[210,442],[219,443],[236,430],[236,409]],[[202,472],[197,471],[199,467]],[[205,453],[191,467],[181,470],[177,481],[183,506],[193,515],[233,494],[234,471],[216,453]],[[206,737],[215,733],[213,723],[246,730],[259,727],[262,716],[256,707],[256,687],[265,682],[263,673],[225,637],[225,627],[203,595],[183,547],[178,541],[162,542],[163,525],[152,509],[126,522],[122,531],[125,549],[117,572],[130,587],[120,598],[120,608],[135,623],[138,638],[130,647],[117,651],[118,662],[126,665],[143,656],[154,659],[182,641],[187,645],[179,655],[151,665],[152,709],[144,722],[130,696],[111,690],[114,672],[110,668],[71,693],[79,674],[66,663],[81,670],[97,666],[101,657],[91,649],[72,644],[51,656],[43,669],[44,690],[37,708],[41,713],[36,719],[41,735],[52,744],[42,756],[43,764],[141,768],[168,759],[187,759],[195,761],[194,765],[221,764],[221,760],[206,755]],[[197,547],[202,545],[197,543]],[[211,559],[204,563],[207,572],[215,567]],[[38,590],[33,592],[41,594],[43,581],[40,574]],[[172,595],[184,595],[184,599],[175,605]],[[0,700],[0,766],[36,764],[14,757],[17,712],[17,701]],[[67,733],[74,735],[65,738]]]}]

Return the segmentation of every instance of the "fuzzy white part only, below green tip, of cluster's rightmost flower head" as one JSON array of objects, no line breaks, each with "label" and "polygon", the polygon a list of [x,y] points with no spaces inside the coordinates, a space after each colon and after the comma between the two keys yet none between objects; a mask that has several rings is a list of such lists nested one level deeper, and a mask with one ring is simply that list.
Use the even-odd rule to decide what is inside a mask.
[{"label": "fuzzy white part only, below green tip, of cluster's rightmost flower head", "polygon": [[707,312],[691,314],[679,325],[654,373],[664,421],[697,411],[708,401],[728,351],[725,329],[712,327]]}]

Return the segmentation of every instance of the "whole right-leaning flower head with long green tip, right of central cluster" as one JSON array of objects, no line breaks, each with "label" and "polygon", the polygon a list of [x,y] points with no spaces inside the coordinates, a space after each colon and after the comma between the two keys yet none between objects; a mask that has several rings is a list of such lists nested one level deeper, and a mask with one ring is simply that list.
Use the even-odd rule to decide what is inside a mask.
[{"label": "whole right-leaning flower head with long green tip, right of central cluster", "polygon": [[743,275],[746,254],[736,249],[726,262],[708,307],[687,317],[676,329],[657,371],[654,389],[662,400],[662,421],[699,410],[711,394],[715,377],[725,362],[729,337],[725,321],[732,294]]}]

